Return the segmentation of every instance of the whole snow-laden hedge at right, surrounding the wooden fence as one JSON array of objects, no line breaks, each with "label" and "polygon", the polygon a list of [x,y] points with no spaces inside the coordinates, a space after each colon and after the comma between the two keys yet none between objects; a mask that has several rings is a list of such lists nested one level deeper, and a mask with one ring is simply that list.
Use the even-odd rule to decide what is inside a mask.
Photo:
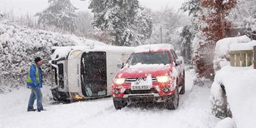
[{"label": "whole snow-laden hedge at right, surrounding the wooden fence", "polygon": [[256,70],[253,69],[253,65],[231,67],[229,62],[229,51],[252,50],[254,45],[256,41],[251,41],[247,36],[224,38],[216,44],[216,75],[211,87],[212,113],[220,118],[230,116],[234,120],[225,118],[216,127],[256,125]]}]

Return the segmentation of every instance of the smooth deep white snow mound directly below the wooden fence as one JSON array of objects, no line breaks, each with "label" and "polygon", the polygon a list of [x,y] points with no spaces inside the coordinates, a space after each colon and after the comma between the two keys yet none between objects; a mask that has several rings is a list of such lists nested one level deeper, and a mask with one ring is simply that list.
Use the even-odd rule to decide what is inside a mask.
[{"label": "smooth deep white snow mound directly below the wooden fence", "polygon": [[[256,70],[253,67],[225,66],[216,72],[212,88],[220,88],[220,83],[225,86],[227,102],[237,127],[255,127],[256,125],[255,78]],[[212,89],[211,93],[220,93],[219,91]],[[215,99],[218,99],[218,96],[215,96]]]}]

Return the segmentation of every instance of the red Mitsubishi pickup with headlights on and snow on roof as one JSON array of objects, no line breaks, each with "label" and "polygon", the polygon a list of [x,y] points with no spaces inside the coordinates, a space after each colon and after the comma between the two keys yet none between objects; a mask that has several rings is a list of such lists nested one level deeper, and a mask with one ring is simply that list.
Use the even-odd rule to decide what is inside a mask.
[{"label": "red Mitsubishi pickup with headlights on and snow on roof", "polygon": [[185,93],[184,61],[171,44],[138,46],[118,67],[112,83],[116,109],[131,102],[163,102],[165,108],[178,108],[179,93]]}]

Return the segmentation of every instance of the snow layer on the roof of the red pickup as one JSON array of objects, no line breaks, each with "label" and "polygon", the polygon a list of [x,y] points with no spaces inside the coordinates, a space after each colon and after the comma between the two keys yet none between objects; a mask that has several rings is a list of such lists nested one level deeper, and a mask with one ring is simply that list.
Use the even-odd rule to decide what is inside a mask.
[{"label": "snow layer on the roof of the red pickup", "polygon": [[174,49],[172,44],[148,44],[140,45],[135,48],[134,52],[148,52],[148,51],[159,51],[159,50],[170,50]]}]

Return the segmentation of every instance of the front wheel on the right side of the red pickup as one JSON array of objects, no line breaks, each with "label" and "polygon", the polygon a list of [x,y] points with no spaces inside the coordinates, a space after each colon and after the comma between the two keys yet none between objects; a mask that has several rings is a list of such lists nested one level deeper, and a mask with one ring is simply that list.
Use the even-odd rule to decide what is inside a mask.
[{"label": "front wheel on the right side of the red pickup", "polygon": [[176,88],[174,92],[174,97],[164,101],[164,107],[167,109],[177,109],[179,107],[179,89]]}]

